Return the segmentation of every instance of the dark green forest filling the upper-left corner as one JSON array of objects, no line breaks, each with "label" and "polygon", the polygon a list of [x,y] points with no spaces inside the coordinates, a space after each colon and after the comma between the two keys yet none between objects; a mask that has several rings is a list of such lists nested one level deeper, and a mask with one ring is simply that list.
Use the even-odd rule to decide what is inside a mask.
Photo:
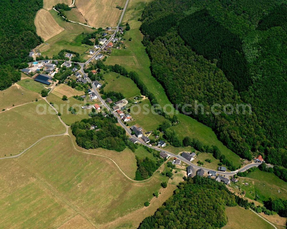
[{"label": "dark green forest filling the upper-left corner", "polygon": [[13,68],[25,68],[30,50],[41,43],[34,18],[42,7],[41,0],[0,1],[0,90],[20,79]]}]

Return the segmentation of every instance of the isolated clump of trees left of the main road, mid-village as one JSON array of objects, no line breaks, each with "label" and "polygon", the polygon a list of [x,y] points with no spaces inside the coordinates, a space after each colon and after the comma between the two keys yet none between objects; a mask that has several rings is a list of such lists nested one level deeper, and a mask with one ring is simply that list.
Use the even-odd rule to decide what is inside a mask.
[{"label": "isolated clump of trees left of the main road, mid-village", "polygon": [[[104,148],[120,152],[126,148],[129,140],[125,130],[117,126],[116,122],[115,117],[104,117],[99,113],[92,118],[73,123],[71,130],[77,144],[83,148]],[[99,130],[91,130],[91,125],[97,126]]]}]

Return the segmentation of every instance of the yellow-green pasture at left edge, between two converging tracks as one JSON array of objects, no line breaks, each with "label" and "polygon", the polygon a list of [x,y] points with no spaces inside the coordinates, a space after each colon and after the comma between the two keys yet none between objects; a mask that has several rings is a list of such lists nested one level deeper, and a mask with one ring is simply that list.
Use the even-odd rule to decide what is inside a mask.
[{"label": "yellow-green pasture at left edge, between two converging tracks", "polygon": [[[48,106],[45,101],[39,100],[1,113],[1,157],[5,154],[18,154],[44,136],[65,132],[56,115],[49,112],[40,115],[36,112],[36,107],[40,104]],[[42,112],[43,109],[39,108],[39,111]]]}]

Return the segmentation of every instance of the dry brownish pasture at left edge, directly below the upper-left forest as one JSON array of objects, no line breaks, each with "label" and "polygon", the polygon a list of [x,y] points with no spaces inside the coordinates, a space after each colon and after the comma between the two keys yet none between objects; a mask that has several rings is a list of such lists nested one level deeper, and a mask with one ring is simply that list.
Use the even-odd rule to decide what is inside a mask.
[{"label": "dry brownish pasture at left edge, directly below the upper-left forest", "polygon": [[14,84],[0,92],[0,112],[2,112],[2,109],[12,108],[13,104],[14,106],[18,106],[35,101],[36,98],[40,99],[41,96],[20,85]]}]

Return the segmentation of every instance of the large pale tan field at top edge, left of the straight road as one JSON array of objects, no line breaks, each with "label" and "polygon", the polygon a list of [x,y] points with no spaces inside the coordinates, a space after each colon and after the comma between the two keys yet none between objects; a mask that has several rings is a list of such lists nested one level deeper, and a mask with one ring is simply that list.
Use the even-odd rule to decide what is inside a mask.
[{"label": "large pale tan field at top edge, left of the straight road", "polygon": [[125,0],[75,0],[75,5],[89,26],[104,28],[117,25],[122,10],[116,6],[124,7]]}]

